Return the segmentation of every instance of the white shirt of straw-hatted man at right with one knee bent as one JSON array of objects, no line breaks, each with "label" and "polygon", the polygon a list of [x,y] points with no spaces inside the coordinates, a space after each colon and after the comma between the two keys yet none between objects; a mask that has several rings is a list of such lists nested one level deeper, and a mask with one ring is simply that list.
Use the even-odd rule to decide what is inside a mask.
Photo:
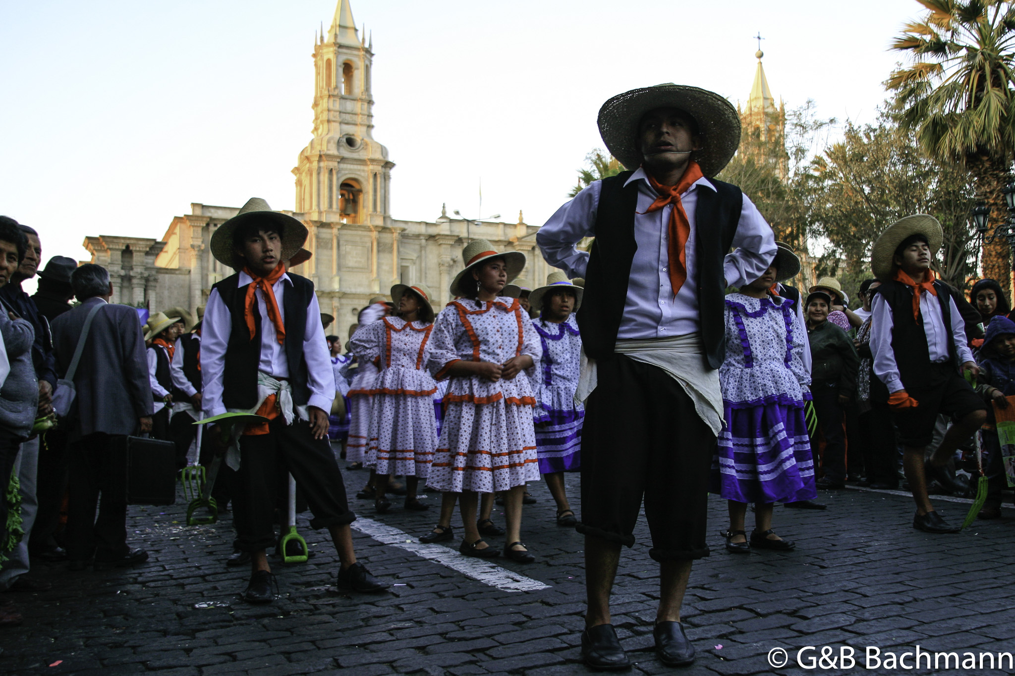
[{"label": "white shirt of straw-hatted man at right with one knee bent", "polygon": [[[951,304],[951,327],[945,326],[937,296],[932,296],[926,290],[920,294],[920,316],[924,319],[924,333],[927,335],[931,362],[941,364],[948,361],[948,341],[955,344],[959,364],[971,362],[972,352],[965,344],[962,315],[953,298],[949,298],[948,302]],[[905,389],[895,363],[895,352],[891,347],[894,325],[891,306],[878,294],[871,306],[871,354],[874,356],[874,375],[888,387],[889,394]]]}]

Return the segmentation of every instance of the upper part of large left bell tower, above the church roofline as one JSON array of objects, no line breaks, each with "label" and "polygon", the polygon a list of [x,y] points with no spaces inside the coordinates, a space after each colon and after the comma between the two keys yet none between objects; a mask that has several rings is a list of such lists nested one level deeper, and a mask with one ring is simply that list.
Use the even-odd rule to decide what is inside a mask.
[{"label": "upper part of large left bell tower, above the church roofline", "polygon": [[[323,27],[323,26],[322,26]],[[314,45],[314,138],[299,153],[295,211],[303,218],[383,227],[390,220],[388,149],[374,140],[373,40],[339,0]]]}]

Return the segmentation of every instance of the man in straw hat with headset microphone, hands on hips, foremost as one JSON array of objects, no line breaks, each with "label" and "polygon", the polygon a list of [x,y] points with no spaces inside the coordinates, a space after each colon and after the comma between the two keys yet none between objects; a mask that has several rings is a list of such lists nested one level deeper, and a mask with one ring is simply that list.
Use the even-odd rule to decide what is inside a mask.
[{"label": "man in straw hat with headset microphone, hands on hips, foremost", "polygon": [[[579,193],[536,237],[550,265],[586,280],[579,324],[595,370],[579,388],[592,391],[578,526],[589,591],[583,653],[595,667],[629,664],[609,624],[609,596],[644,494],[651,555],[662,568],[656,646],[667,665],[689,664],[680,604],[691,561],[708,554],[723,296],[764,273],[775,242],[740,189],[713,177],[740,142],[737,111],[719,94],[676,84],[633,89],[603,104],[599,130],[627,170]],[[596,238],[591,254],[577,247],[587,236]],[[627,449],[621,462],[617,448]]]}]

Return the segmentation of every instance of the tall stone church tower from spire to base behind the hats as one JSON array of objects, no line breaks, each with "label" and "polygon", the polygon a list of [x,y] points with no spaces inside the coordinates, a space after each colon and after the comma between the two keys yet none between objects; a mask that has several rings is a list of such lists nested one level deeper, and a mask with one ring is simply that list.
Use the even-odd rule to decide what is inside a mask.
[{"label": "tall stone church tower from spire to base behind the hats", "polygon": [[[373,41],[358,34],[349,0],[339,0],[328,31],[315,39],[314,138],[292,169],[295,212],[310,229],[307,248],[314,253],[296,272],[323,292],[369,293],[389,281],[380,279],[378,238],[391,231],[389,185],[395,165],[373,136],[371,48]],[[343,253],[340,231],[343,240],[366,246]],[[353,265],[355,279],[343,283],[340,273],[348,267],[343,262],[360,257],[363,265]]]}]

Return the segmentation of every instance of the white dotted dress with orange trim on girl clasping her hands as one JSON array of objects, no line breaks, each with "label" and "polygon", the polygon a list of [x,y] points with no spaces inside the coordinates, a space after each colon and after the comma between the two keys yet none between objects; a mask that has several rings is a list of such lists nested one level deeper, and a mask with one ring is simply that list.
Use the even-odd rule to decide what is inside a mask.
[{"label": "white dotted dress with orange trim on girl clasping her hands", "polygon": [[506,491],[540,478],[531,378],[542,356],[532,321],[514,298],[453,301],[437,316],[427,368],[438,380],[457,361],[503,364],[529,355],[533,368],[511,380],[453,377],[427,485],[436,491]]}]

